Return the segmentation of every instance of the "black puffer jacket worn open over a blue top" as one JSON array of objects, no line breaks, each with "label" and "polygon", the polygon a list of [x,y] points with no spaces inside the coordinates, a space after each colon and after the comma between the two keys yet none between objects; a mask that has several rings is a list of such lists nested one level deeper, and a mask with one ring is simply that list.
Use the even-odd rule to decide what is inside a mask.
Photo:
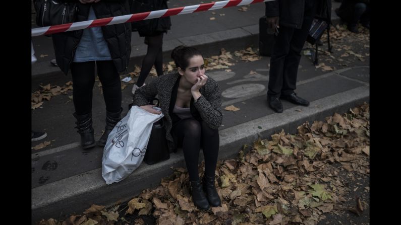
[{"label": "black puffer jacket worn open over a blue top", "polygon": [[[88,20],[90,6],[93,6],[93,11],[97,19],[130,14],[128,0],[101,0],[98,3],[92,4],[75,2],[78,2],[76,22]],[[101,30],[117,71],[120,73],[124,72],[127,69],[131,54],[131,24],[123,23],[102,26]],[[83,30],[76,30],[52,35],[56,62],[66,75],[74,59],[75,50],[78,47],[82,34]]]}]

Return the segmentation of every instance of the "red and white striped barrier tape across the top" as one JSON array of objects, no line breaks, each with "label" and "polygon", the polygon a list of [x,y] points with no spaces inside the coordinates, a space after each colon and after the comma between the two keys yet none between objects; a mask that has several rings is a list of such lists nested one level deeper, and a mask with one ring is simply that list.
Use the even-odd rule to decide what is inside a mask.
[{"label": "red and white striped barrier tape across the top", "polygon": [[54,33],[61,33],[66,31],[75,31],[81,30],[90,27],[100,27],[100,26],[107,26],[113,24],[121,24],[126,22],[134,22],[140,20],[149,20],[154,18],[160,17],[168,17],[168,16],[175,16],[175,15],[182,15],[182,14],[189,14],[189,13],[197,13],[201,11],[210,11],[210,10],[218,10],[222,8],[228,8],[233,6],[243,6],[249,5],[254,3],[261,3],[261,2],[270,2],[276,0],[228,0],[228,1],[221,1],[215,3],[205,3],[201,5],[193,5],[193,6],[186,6],[186,7],[178,7],[173,9],[166,9],[166,10],[157,10],[145,13],[138,13],[138,14],[130,14],[118,17],[109,17],[103,19],[96,19],[96,20],[88,20],[76,23],[69,23],[69,24],[61,24],[61,25],[54,25],[50,27],[40,27],[32,29],[31,36],[39,36],[39,35],[47,35],[47,34],[54,34]]}]

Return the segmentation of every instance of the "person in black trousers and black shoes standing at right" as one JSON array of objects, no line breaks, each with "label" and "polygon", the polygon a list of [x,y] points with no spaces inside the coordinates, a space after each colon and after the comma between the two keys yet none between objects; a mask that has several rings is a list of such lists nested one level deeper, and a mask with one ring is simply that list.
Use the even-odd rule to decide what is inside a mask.
[{"label": "person in black trousers and black shoes standing at right", "polygon": [[277,31],[270,58],[267,91],[269,107],[275,112],[281,113],[283,110],[280,99],[309,106],[309,101],[294,92],[301,50],[316,12],[331,7],[329,1],[276,0],[265,3],[267,26]]}]

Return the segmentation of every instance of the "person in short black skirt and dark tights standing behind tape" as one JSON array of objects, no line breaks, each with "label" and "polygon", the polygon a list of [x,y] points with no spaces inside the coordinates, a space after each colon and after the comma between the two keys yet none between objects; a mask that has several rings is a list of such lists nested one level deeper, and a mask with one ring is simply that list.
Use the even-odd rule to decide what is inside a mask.
[{"label": "person in short black skirt and dark tights standing behind tape", "polygon": [[[130,0],[130,4],[132,14],[168,9],[167,0]],[[145,44],[148,45],[138,81],[132,87],[133,95],[138,88],[145,85],[145,79],[153,65],[157,76],[163,75],[163,34],[170,27],[170,17],[132,22],[132,30],[138,31],[140,37],[145,37]]]}]

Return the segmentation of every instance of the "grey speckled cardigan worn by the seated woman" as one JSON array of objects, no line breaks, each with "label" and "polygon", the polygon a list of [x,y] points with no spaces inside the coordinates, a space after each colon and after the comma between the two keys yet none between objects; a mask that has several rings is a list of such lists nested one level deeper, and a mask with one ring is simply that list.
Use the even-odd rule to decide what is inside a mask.
[{"label": "grey speckled cardigan worn by the seated woman", "polygon": [[[173,121],[169,115],[169,107],[173,88],[179,79],[178,72],[167,73],[158,77],[135,92],[133,105],[149,105],[149,102],[158,95],[161,111],[164,114],[164,128],[166,130],[166,139],[170,152],[176,146],[174,138],[170,131],[173,127]],[[221,91],[220,86],[212,78],[208,78],[206,84],[199,90],[202,97],[196,103],[193,103],[201,119],[212,129],[218,129],[221,125],[223,116],[221,113]],[[193,102],[193,99],[192,99]]]}]

